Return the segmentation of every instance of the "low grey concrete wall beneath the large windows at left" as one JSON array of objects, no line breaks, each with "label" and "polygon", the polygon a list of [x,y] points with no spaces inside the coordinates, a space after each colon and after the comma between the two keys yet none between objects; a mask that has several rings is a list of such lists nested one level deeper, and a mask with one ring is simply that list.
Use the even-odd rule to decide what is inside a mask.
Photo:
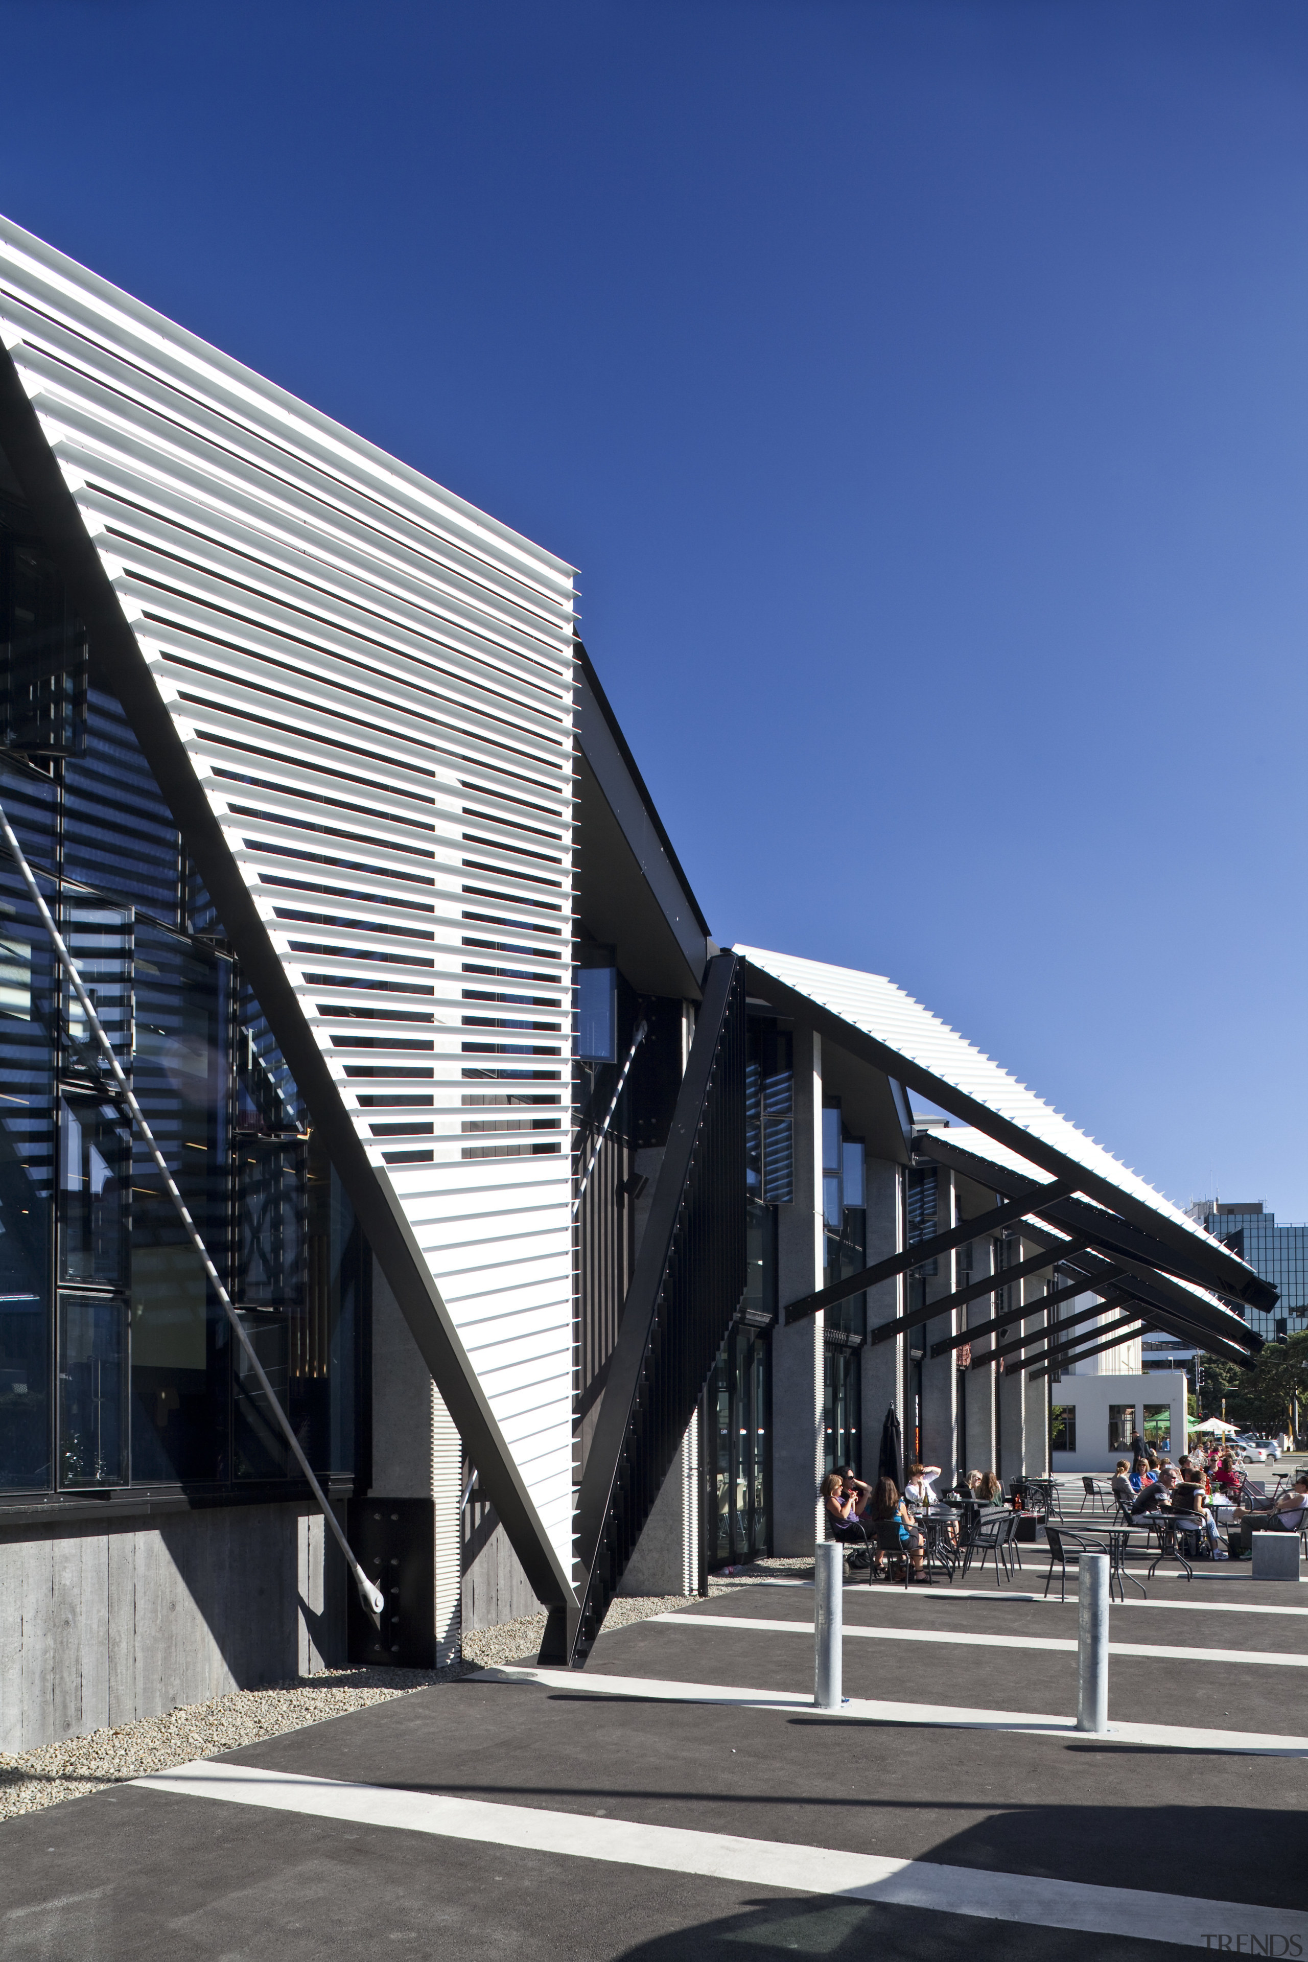
[{"label": "low grey concrete wall beneath the large windows at left", "polygon": [[345,1587],[302,1505],[14,1528],[0,1540],[0,1750],[341,1664]]}]

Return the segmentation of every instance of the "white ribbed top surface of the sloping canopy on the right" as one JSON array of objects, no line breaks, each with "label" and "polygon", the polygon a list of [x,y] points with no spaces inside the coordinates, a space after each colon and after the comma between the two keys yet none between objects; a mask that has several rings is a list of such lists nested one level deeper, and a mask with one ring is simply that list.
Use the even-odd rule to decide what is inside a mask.
[{"label": "white ribbed top surface of the sloping canopy on the right", "polygon": [[[873,1042],[894,1052],[894,1058],[904,1065],[933,1079],[931,1089],[943,1093],[945,1099],[953,1091],[988,1110],[996,1120],[996,1132],[1010,1132],[1002,1142],[1010,1150],[1022,1150],[1022,1138],[1028,1140],[1045,1173],[1082,1171],[1086,1197],[1118,1207],[1132,1220],[1147,1220],[1173,1244],[1192,1240],[1202,1248],[1204,1258],[1214,1256],[1212,1236],[1196,1226],[1181,1207],[1145,1185],[1135,1171],[1086,1138],[1069,1118],[1028,1091],[1016,1077],[1010,1077],[988,1056],[982,1056],[965,1036],[941,1022],[894,981],[886,981],[884,975],[859,973],[855,967],[830,967],[826,961],[769,954],[763,948],[737,946],[735,952],[759,973],[773,975],[851,1028],[863,1030]],[[931,1091],[928,1089],[926,1095]],[[949,1109],[947,1101],[943,1109]],[[1243,1267],[1243,1262],[1235,1265]],[[1251,1281],[1257,1281],[1251,1267],[1243,1271]]]}]

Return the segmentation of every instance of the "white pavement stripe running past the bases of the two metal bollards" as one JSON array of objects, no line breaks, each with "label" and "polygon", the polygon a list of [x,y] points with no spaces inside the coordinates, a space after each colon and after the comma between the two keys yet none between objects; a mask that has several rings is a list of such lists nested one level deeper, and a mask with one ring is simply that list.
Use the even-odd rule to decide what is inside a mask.
[{"label": "white pavement stripe running past the bases of the two metal bollards", "polygon": [[[837,1711],[816,1711],[812,1697],[794,1689],[741,1689],[735,1683],[679,1683],[661,1676],[602,1676],[580,1670],[496,1668],[478,1670],[477,1683],[539,1683],[575,1697],[633,1697],[645,1703],[712,1703],[729,1709],[780,1711],[782,1717],[853,1719],[857,1723],[904,1723],[937,1730],[1020,1730],[1063,1744],[1079,1742],[1075,1717],[1047,1711],[984,1711],[953,1703],[888,1703],[875,1697],[845,1697]],[[1192,1725],[1114,1723],[1108,1732],[1086,1738],[1094,1744],[1157,1744],[1163,1750],[1232,1750],[1259,1758],[1308,1758],[1308,1736],[1277,1736],[1265,1730],[1198,1730]]]}]

